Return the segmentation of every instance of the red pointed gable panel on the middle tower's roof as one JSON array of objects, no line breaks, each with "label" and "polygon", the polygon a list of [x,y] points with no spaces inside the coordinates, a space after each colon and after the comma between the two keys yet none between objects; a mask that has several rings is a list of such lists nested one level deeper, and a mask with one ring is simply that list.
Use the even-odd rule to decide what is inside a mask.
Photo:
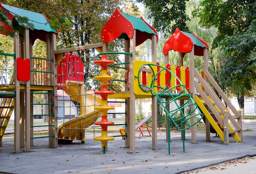
[{"label": "red pointed gable panel on the middle tower's roof", "polygon": [[116,9],[101,30],[101,40],[105,43],[111,42],[121,36],[122,33],[126,33],[128,38],[133,38],[134,28],[132,23]]}]

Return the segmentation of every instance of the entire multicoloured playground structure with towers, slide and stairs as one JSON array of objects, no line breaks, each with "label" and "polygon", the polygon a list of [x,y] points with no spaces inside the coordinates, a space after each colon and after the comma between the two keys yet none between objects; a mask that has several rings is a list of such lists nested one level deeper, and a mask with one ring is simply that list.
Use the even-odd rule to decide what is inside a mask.
[{"label": "entire multicoloured playground structure with towers, slide and stairs", "polygon": [[[11,11],[24,16],[24,14],[16,12],[22,11],[26,13],[29,19],[30,16],[31,18],[33,16],[36,18],[34,21],[41,20],[45,21],[45,24],[47,23],[47,19],[41,14],[36,13],[35,15],[34,12],[32,14],[32,12],[4,4],[1,4],[1,7],[7,10],[10,20],[12,19]],[[235,141],[242,142],[240,113],[231,105],[209,74],[207,64],[209,47],[206,42],[194,34],[176,29],[164,45],[165,62],[162,65],[159,65],[156,60],[157,32],[155,29],[148,25],[143,18],[135,18],[121,13],[117,9],[102,28],[101,39],[103,43],[57,50],[56,35],[57,31],[50,28],[49,25],[41,26],[36,23],[34,31],[25,29],[23,33],[19,33],[14,38],[15,55],[4,54],[4,56],[14,57],[14,69],[9,84],[0,87],[0,91],[2,91],[0,96],[3,98],[0,107],[0,141],[2,141],[4,130],[14,109],[14,152],[20,152],[20,147],[24,147],[25,151],[30,151],[30,147],[33,145],[35,138],[33,137],[33,116],[35,114],[33,114],[31,105],[35,104],[33,103],[34,94],[46,94],[48,96],[48,103],[44,103],[44,105],[48,106],[49,112],[45,114],[49,117],[49,147],[57,147],[58,139],[79,140],[84,143],[86,141],[85,129],[95,124],[102,127],[102,134],[100,137],[95,137],[94,140],[101,141],[103,153],[105,153],[108,141],[114,140],[114,137],[108,136],[107,132],[108,125],[114,124],[107,120],[107,112],[113,108],[108,106],[108,98],[126,100],[125,129],[127,135],[125,145],[130,148],[131,153],[136,152],[136,98],[151,98],[152,101],[152,149],[157,149],[157,100],[164,107],[166,120],[168,120],[166,121],[166,128],[168,128],[166,134],[168,135],[169,154],[170,121],[175,124],[177,130],[182,132],[183,142],[185,139],[184,130],[191,128],[191,140],[192,143],[196,143],[194,125],[200,121],[202,115],[206,118],[207,141],[210,141],[210,131],[213,127],[225,144],[229,144],[229,134],[233,136]],[[33,57],[32,45],[37,38],[47,43],[47,58]],[[124,52],[108,52],[108,43],[117,38],[124,40]],[[151,62],[135,60],[135,47],[147,39],[152,42]],[[102,50],[102,53],[99,54],[101,58],[95,58],[90,62],[93,62],[95,67],[99,67],[99,65],[101,67],[101,74],[94,77],[95,80],[101,81],[101,91],[95,91],[94,95],[86,92],[84,88],[83,62],[79,56],[67,53],[97,48]],[[179,51],[180,65],[178,67],[168,64],[168,51],[171,49]],[[189,68],[183,67],[183,58],[186,53],[189,53],[190,57]],[[108,81],[114,79],[108,74],[108,66],[115,65],[115,62],[108,60],[110,54],[124,54],[125,56],[123,64],[126,70],[124,92],[114,93],[107,89]],[[204,56],[204,71],[201,75],[194,68],[194,55]],[[32,60],[46,62],[47,69],[43,71],[35,69],[36,66]],[[24,70],[23,67],[27,67],[27,69]],[[41,78],[45,79],[43,83],[32,80],[36,73],[41,74]],[[216,96],[208,81],[211,82],[229,109],[235,114],[237,121]],[[69,118],[60,126],[58,126],[58,118],[62,118],[62,116],[57,114],[57,89],[65,91],[77,103],[75,107],[80,108],[79,116]],[[101,98],[97,95],[101,95]],[[161,98],[165,99],[164,102],[161,101]],[[178,100],[179,102],[177,102]],[[170,108],[173,103],[177,108]],[[189,111],[186,111],[187,108]],[[180,115],[180,118],[176,118],[177,115]],[[99,117],[101,117],[101,121],[96,122]],[[229,121],[234,127],[229,125]]]}]

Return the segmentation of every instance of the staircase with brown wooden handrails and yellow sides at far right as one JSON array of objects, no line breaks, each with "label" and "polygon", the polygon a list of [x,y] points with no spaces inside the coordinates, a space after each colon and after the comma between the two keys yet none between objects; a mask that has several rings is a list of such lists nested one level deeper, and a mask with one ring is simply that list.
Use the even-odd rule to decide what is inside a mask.
[{"label": "staircase with brown wooden handrails and yellow sides at far right", "polygon": [[[195,70],[195,77],[201,84],[195,81],[195,89],[199,92],[198,96],[195,96],[195,103],[198,104],[200,109],[202,110],[206,119],[206,131],[207,131],[207,141],[210,141],[210,125],[212,125],[213,129],[220,136],[225,145],[229,145],[229,135],[231,135],[236,142],[242,142],[242,120],[240,117],[240,113],[235,109],[235,107],[231,104],[227,96],[220,89],[215,80],[211,77],[208,71],[204,71],[205,77],[203,78],[198,71]],[[207,80],[204,80],[207,79]],[[229,113],[227,107],[223,105],[222,101],[213,89],[210,87],[207,81],[210,81],[213,87],[218,91],[221,95],[222,99],[229,106],[229,109],[235,114],[237,120]],[[213,116],[216,118],[214,119]],[[216,122],[216,120],[218,120]],[[231,123],[233,127],[229,124]]]}]

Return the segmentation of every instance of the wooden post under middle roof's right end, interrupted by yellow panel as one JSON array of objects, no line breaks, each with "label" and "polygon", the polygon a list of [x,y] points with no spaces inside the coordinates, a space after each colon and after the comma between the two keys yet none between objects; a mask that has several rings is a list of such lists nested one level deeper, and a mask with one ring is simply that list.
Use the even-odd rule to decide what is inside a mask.
[{"label": "wooden post under middle roof's right end, interrupted by yellow panel", "polygon": [[[152,62],[157,62],[157,36],[151,36]],[[152,149],[157,149],[157,96],[152,96]]]}]

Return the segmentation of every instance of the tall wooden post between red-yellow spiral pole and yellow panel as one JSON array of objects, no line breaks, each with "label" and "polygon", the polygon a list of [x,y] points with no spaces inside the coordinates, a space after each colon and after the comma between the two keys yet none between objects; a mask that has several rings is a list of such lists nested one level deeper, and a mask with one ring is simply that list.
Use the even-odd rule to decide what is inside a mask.
[{"label": "tall wooden post between red-yellow spiral pole and yellow panel", "polygon": [[133,38],[130,39],[130,52],[132,52],[132,57],[130,58],[130,120],[129,120],[129,134],[130,134],[130,153],[135,153],[135,94],[133,92],[133,62],[135,60],[135,45],[136,45],[136,30],[134,30]]}]

